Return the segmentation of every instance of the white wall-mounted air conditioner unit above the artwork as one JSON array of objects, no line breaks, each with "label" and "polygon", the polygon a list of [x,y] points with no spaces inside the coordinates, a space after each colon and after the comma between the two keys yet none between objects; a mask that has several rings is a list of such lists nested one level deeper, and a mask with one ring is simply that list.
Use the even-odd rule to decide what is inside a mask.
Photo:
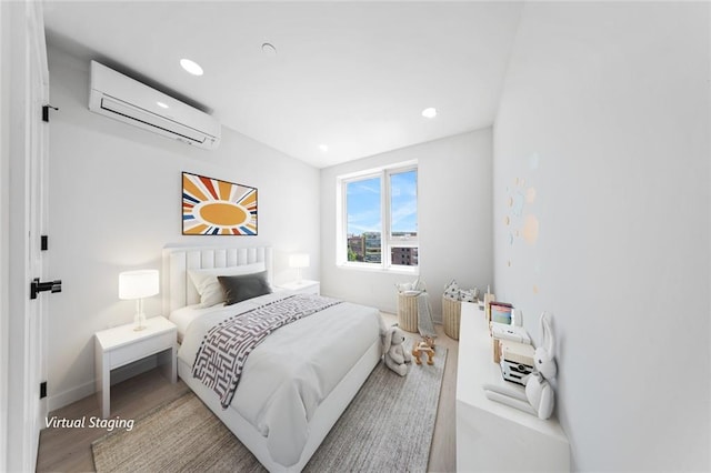
[{"label": "white wall-mounted air conditioner unit above the artwork", "polygon": [[220,144],[216,119],[97,61],[91,61],[89,110],[196,147]]}]

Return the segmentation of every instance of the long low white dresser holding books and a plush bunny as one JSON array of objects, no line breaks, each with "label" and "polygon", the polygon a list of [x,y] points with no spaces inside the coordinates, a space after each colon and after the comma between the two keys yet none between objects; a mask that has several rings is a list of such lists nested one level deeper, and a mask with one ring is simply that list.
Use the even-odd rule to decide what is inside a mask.
[{"label": "long low white dresser holding books and a plush bunny", "polygon": [[570,471],[570,444],[547,421],[487,399],[483,384],[511,385],[492,361],[483,311],[462,302],[457,368],[457,471]]}]

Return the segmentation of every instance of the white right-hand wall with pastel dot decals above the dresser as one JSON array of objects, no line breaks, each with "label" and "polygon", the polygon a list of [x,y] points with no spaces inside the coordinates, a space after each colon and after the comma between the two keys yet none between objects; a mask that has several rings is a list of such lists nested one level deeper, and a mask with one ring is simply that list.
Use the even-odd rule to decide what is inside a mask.
[{"label": "white right-hand wall with pastel dot decals above the dresser", "polygon": [[[711,469],[709,19],[681,2],[522,13],[494,124],[494,290],[537,340],[553,313],[575,470]],[[511,244],[529,215],[538,240]]]}]

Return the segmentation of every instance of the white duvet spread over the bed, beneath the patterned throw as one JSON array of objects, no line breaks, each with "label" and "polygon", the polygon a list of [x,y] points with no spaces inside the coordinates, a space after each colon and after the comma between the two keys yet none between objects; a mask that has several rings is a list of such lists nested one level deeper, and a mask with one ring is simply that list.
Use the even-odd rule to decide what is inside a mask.
[{"label": "white duvet spread over the bed, beneath the patterned throw", "polygon": [[[178,352],[192,366],[204,334],[220,321],[290,295],[279,292],[213,311],[200,311],[187,328]],[[363,353],[380,340],[378,310],[343,302],[286,325],[249,355],[229,409],[266,439],[272,459],[296,464],[319,404]],[[210,393],[210,395],[217,394]]]}]

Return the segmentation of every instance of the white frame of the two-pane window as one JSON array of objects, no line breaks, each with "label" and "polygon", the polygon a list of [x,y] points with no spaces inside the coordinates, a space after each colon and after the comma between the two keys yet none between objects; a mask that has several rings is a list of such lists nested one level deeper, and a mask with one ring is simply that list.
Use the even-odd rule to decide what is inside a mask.
[{"label": "white frame of the two-pane window", "polygon": [[[392,185],[391,177],[404,172],[415,171],[415,191],[418,223],[417,234],[414,236],[393,236],[392,235]],[[348,184],[368,179],[380,178],[380,263],[368,263],[364,261],[348,261]],[[402,272],[408,274],[419,274],[420,262],[420,191],[419,191],[419,168],[417,161],[398,163],[388,167],[373,168],[357,173],[343,174],[337,177],[337,244],[336,244],[336,264],[340,268],[359,269],[370,271],[389,271]],[[404,265],[392,264],[392,248],[417,248],[418,264]]]}]

